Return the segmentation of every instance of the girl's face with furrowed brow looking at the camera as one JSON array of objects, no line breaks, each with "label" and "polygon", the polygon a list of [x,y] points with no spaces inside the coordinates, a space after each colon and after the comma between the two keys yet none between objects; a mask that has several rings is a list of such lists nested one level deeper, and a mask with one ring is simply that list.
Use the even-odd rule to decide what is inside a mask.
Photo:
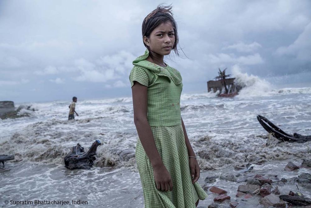
[{"label": "girl's face with furrowed brow looking at the camera", "polygon": [[144,36],[144,42],[156,54],[166,56],[172,50],[175,42],[174,27],[171,22],[163,22],[156,27],[149,38]]}]

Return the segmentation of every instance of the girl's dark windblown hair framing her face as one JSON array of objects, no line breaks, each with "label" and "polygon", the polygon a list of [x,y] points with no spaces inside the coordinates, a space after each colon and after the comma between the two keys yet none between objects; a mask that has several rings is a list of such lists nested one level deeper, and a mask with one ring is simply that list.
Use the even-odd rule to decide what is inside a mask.
[{"label": "girl's dark windblown hair framing her face", "polygon": [[[173,13],[172,13],[172,6],[164,6],[163,4],[158,5],[158,7],[150,12],[147,17],[145,17],[144,21],[142,22],[142,37],[146,36],[149,37],[151,32],[158,27],[163,22],[171,22],[174,28],[175,34],[175,42],[172,49],[175,53],[179,56],[177,45],[178,45],[178,33],[177,33],[177,24],[174,20]],[[150,51],[149,46],[147,46],[144,42],[145,47]]]}]

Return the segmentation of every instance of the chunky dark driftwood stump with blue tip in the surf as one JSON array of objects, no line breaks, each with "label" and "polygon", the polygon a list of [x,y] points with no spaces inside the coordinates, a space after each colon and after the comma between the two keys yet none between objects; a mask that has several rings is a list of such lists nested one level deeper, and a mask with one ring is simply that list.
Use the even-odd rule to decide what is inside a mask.
[{"label": "chunky dark driftwood stump with blue tip in the surf", "polygon": [[89,151],[85,152],[84,148],[78,143],[65,156],[65,167],[68,169],[90,169],[94,165],[96,149],[99,145],[101,145],[100,141],[96,140]]}]

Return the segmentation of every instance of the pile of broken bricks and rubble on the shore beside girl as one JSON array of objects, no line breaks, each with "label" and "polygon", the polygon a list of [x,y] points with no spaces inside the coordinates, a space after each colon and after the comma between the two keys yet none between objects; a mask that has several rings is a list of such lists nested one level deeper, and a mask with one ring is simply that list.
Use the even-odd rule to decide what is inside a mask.
[{"label": "pile of broken bricks and rubble on the shore beside girl", "polygon": [[[302,162],[302,166],[304,168],[311,167],[311,159],[304,159]],[[289,162],[285,171],[296,171],[299,169],[293,162]],[[237,175],[238,177],[240,176]],[[221,175],[220,179],[226,181],[236,182],[236,176],[233,174],[225,174]],[[248,204],[248,201],[256,197],[256,201],[262,205],[262,207],[272,208],[272,207],[304,207],[311,208],[311,199],[304,196],[303,193],[293,192],[291,190],[282,189],[283,194],[280,195],[278,183],[285,184],[290,180],[294,180],[293,182],[300,187],[304,187],[311,193],[311,174],[307,172],[302,172],[298,177],[285,179],[282,178],[280,181],[272,181],[271,179],[264,177],[263,175],[256,174],[253,177],[249,177],[247,179],[247,183],[244,185],[239,185],[235,196],[230,196],[228,192],[222,188],[216,186],[205,186],[204,190],[209,191],[213,194],[211,196],[215,196],[214,203],[208,206],[208,208],[238,208],[238,207],[252,207],[251,204]],[[205,182],[213,183],[216,181],[216,177],[207,177]],[[238,181],[241,182],[241,181]],[[298,188],[298,186],[297,186]],[[232,194],[231,194],[232,195]],[[199,207],[201,208],[201,207]],[[202,207],[203,208],[203,207]]]}]

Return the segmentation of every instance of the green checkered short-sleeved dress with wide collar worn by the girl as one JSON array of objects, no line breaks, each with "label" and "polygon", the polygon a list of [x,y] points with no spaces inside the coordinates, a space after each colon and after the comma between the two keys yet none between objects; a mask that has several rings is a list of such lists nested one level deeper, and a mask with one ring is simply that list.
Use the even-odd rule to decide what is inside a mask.
[{"label": "green checkered short-sleeved dress with wide collar worn by the girl", "polygon": [[188,151],[185,144],[180,115],[180,94],[183,88],[179,71],[161,67],[145,60],[143,56],[133,61],[130,82],[148,87],[147,119],[163,164],[168,170],[173,191],[159,191],[153,176],[151,162],[140,140],[136,145],[135,158],[142,181],[146,208],[195,208],[198,199],[207,194],[198,184],[192,184]]}]

